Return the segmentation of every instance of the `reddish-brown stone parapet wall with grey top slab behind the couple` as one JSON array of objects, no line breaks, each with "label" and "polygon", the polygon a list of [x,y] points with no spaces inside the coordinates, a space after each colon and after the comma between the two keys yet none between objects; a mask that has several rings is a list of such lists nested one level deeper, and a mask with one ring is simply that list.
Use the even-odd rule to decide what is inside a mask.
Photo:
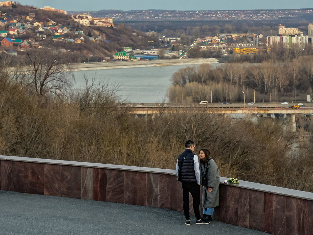
[{"label": "reddish-brown stone parapet wall with grey top slab behind the couple", "polygon": [[[220,180],[214,220],[276,235],[313,234],[313,193]],[[183,211],[175,170],[0,156],[0,189]]]}]

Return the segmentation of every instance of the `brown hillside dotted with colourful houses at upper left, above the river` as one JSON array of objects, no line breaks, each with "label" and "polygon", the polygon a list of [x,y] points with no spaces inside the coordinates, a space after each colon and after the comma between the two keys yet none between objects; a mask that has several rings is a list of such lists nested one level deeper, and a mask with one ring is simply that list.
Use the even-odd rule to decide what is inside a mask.
[{"label": "brown hillside dotted with colourful houses at upper left, above the river", "polygon": [[[7,21],[0,30],[16,29],[17,34],[8,34],[8,37],[30,42],[34,39],[43,48],[60,50],[71,53],[68,58],[71,62],[85,62],[101,60],[104,56],[114,55],[122,47],[135,47],[142,50],[159,46],[155,38],[151,38],[138,30],[126,27],[124,24],[115,24],[115,27],[85,27],[74,21],[70,15],[54,11],[45,11],[31,6],[16,5],[16,8],[2,7],[1,18]],[[35,15],[33,17],[33,14]],[[32,17],[31,17],[32,16]],[[36,22],[39,24],[34,25]],[[39,29],[39,31],[38,31]],[[42,31],[40,31],[42,30]],[[133,33],[136,32],[136,35]],[[56,39],[56,35],[59,38]],[[90,40],[93,37],[95,40]],[[2,40],[4,37],[1,37]],[[69,39],[81,39],[81,43],[69,43]],[[154,43],[148,42],[154,41]],[[33,42],[33,41],[32,41]],[[156,43],[155,43],[156,42]],[[11,50],[18,54],[19,45],[14,44]]]}]

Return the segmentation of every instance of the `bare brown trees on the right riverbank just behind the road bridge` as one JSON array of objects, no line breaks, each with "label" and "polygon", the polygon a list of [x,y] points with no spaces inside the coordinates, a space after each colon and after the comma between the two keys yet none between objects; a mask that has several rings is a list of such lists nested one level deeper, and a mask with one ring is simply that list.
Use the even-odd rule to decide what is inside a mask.
[{"label": "bare brown trees on the right riverbank just behind the road bridge", "polygon": [[[172,75],[169,98],[172,102],[246,101],[281,102],[296,91],[297,100],[306,100],[313,86],[313,56],[288,61],[268,60],[259,64],[202,64],[179,69]],[[244,93],[243,93],[244,92]],[[287,93],[288,92],[288,93]],[[289,95],[288,95],[289,94]],[[292,100],[292,99],[291,99]]]}]

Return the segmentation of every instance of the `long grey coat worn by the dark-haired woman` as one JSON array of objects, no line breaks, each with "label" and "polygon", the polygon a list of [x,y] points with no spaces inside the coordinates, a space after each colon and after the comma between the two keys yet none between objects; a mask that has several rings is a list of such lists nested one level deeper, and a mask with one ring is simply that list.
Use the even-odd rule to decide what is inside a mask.
[{"label": "long grey coat worn by the dark-haired woman", "polygon": [[[202,206],[215,207],[219,205],[219,173],[218,167],[211,158],[208,162],[208,180],[207,185],[203,185],[202,192]],[[200,164],[200,182],[202,182],[203,175],[206,174],[207,165]],[[208,187],[212,188],[212,192],[208,192]]]}]

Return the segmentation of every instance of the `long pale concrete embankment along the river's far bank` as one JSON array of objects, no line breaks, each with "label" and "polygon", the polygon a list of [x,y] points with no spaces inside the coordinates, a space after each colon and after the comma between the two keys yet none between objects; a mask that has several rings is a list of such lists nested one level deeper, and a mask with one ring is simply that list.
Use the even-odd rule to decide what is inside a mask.
[{"label": "long pale concrete embankment along the river's far bank", "polygon": [[85,70],[103,70],[103,69],[121,69],[121,68],[138,68],[153,66],[169,66],[169,65],[199,65],[203,63],[216,64],[219,61],[215,58],[197,58],[197,59],[172,59],[172,60],[148,60],[148,61],[121,61],[121,62],[93,62],[79,63],[69,65],[69,70],[85,71]]}]

